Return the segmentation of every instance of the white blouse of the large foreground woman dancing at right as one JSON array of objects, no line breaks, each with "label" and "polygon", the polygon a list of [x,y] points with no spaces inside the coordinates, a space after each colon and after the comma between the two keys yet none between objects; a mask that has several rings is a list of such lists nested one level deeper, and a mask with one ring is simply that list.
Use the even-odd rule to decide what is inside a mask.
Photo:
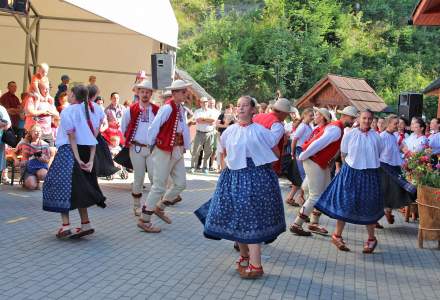
[{"label": "white blouse of the large foreground woman dancing at right", "polygon": [[341,152],[346,154],[345,162],[353,169],[379,168],[381,151],[380,136],[373,129],[362,132],[359,128],[355,128],[342,137]]}]

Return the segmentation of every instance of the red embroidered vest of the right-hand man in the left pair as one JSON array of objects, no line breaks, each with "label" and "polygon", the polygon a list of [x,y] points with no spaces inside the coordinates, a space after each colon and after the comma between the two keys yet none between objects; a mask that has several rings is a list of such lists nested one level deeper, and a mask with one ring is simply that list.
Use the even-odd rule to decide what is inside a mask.
[{"label": "red embroidered vest of the right-hand man in the left pair", "polygon": [[172,111],[168,120],[160,127],[156,137],[156,147],[163,151],[173,152],[180,111],[173,98],[168,98],[164,104],[171,105]]}]

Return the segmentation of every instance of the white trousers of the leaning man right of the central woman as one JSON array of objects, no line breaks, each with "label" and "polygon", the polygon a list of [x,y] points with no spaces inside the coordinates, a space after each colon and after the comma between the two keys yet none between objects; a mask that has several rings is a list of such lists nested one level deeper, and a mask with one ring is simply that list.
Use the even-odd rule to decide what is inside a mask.
[{"label": "white trousers of the leaning man right of the central woman", "polygon": [[[318,202],[319,197],[325,191],[327,186],[330,184],[331,175],[330,168],[327,167],[322,169],[317,163],[311,159],[306,159],[303,161],[304,171],[306,172],[307,180],[304,181],[307,187],[308,196],[306,202],[301,207],[300,213],[306,216],[310,216],[315,207],[316,202]],[[304,185],[304,183],[303,183]]]}]

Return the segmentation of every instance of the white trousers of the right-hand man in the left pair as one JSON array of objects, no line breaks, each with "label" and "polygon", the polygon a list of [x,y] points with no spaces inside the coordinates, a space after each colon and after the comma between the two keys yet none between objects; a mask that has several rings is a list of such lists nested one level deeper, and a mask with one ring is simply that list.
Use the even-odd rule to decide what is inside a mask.
[{"label": "white trousers of the right-hand man in the left pair", "polygon": [[[146,201],[149,210],[153,210],[161,200],[174,200],[186,188],[184,153],[183,147],[174,147],[172,153],[154,148],[153,186]],[[168,178],[171,178],[169,189],[167,189]]]}]

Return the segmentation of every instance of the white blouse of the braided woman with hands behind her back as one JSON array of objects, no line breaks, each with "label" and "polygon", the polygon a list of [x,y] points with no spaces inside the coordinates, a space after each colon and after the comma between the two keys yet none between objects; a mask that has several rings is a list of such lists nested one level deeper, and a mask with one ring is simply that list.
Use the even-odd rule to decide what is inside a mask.
[{"label": "white blouse of the braided woman with hands behind her back", "polygon": [[[95,126],[95,123],[97,124],[98,115],[99,112],[95,117],[90,114],[93,126]],[[60,127],[58,127],[57,139],[55,142],[58,148],[62,145],[70,144],[68,134],[72,132],[75,133],[76,143],[78,145],[93,146],[98,143],[95,135],[92,133],[89,125],[87,124],[84,104],[69,105],[63,109],[60,118]]]}]

